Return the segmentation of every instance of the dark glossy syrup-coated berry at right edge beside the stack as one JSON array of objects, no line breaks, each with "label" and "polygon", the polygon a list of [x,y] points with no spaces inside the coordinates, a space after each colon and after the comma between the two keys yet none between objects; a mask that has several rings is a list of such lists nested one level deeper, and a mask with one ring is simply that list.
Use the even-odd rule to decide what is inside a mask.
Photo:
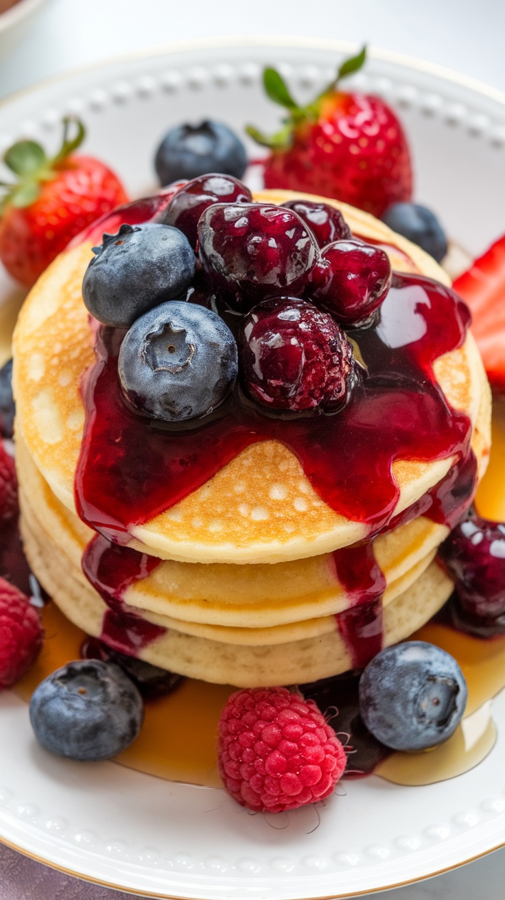
[{"label": "dark glossy syrup-coated berry at right edge beside the stack", "polygon": [[505,525],[473,516],[455,527],[439,548],[455,579],[461,608],[483,624],[505,625]]}]

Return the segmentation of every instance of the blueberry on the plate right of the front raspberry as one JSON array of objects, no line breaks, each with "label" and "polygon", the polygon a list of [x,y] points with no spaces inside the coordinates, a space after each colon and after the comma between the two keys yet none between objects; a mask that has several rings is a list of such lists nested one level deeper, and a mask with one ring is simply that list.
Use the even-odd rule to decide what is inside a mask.
[{"label": "blueberry on the plate right of the front raspberry", "polygon": [[377,653],[359,682],[359,712],[392,750],[426,750],[455,732],[468,691],[455,659],[434,644],[410,641]]}]

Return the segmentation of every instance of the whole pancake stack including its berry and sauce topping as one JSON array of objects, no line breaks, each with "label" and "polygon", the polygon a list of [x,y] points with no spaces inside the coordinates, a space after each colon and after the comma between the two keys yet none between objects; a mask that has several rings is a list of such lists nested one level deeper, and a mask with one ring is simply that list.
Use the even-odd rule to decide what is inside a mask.
[{"label": "whole pancake stack including its berry and sauce topping", "polygon": [[453,590],[437,548],[490,446],[468,325],[431,257],[338,202],[205,175],[115,211],[16,329],[37,578],[180,675],[365,667]]}]

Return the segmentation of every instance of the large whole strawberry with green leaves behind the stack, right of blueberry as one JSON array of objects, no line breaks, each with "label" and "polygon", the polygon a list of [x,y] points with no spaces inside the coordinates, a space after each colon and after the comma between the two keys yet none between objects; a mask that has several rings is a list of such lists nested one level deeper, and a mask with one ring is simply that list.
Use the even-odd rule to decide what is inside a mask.
[{"label": "large whole strawberry with green leaves behind the stack, right of blueberry", "polygon": [[394,202],[410,200],[410,153],[400,121],[379,97],[339,88],[341,79],[364,62],[365,48],[305,106],[293,100],[274,68],[265,69],[266,94],[288,112],[284,128],[271,138],[247,129],[257,143],[271,148],[264,163],[266,187],[336,197],[375,216]]}]

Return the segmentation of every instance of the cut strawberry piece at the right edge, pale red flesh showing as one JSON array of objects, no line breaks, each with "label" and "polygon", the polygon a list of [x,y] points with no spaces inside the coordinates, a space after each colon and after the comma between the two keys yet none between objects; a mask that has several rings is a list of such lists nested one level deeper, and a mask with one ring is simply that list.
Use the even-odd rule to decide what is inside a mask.
[{"label": "cut strawberry piece at the right edge, pale red flesh showing", "polygon": [[453,285],[472,312],[472,331],[494,393],[505,395],[505,235]]}]

